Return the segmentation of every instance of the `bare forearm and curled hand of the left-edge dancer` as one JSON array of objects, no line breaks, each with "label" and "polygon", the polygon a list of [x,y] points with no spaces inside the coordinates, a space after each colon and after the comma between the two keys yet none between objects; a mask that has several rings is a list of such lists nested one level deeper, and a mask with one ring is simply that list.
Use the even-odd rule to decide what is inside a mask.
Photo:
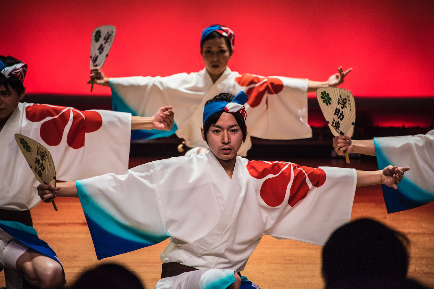
[{"label": "bare forearm and curled hand of the left-edge dancer", "polygon": [[152,117],[131,117],[132,130],[170,130],[174,113],[171,106],[160,107]]}]

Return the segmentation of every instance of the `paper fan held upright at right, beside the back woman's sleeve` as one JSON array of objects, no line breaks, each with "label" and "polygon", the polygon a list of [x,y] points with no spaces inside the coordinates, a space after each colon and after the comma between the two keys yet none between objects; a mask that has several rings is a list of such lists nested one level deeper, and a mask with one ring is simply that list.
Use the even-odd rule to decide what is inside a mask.
[{"label": "paper fan held upright at right, beside the back woman's sleeve", "polygon": [[[355,126],[355,101],[352,93],[343,88],[322,87],[316,90],[316,99],[334,136],[352,137]],[[345,159],[349,163],[345,150]]]}]

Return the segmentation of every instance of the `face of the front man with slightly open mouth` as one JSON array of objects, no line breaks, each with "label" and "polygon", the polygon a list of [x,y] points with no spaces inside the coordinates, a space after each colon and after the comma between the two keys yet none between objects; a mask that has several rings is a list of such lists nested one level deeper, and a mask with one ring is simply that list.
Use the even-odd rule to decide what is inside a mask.
[{"label": "face of the front man with slightly open mouth", "polygon": [[[202,138],[205,140],[205,132]],[[210,126],[207,134],[208,146],[220,161],[228,161],[237,157],[238,150],[243,143],[243,133],[233,114],[223,112],[216,124]]]}]

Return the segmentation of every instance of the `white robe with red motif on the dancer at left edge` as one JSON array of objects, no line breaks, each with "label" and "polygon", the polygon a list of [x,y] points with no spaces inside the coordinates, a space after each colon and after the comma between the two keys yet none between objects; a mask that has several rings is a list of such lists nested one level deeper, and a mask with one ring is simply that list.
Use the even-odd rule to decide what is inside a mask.
[{"label": "white robe with red motif on the dancer at left edge", "polygon": [[[15,141],[15,133],[43,144],[53,156],[56,179],[73,181],[108,172],[125,172],[130,131],[131,114],[19,103],[0,131],[0,208],[25,211],[41,201],[36,193],[39,182]],[[9,241],[12,236],[59,262],[56,253],[38,238],[33,227],[0,221],[1,230],[7,234],[2,232],[0,235],[5,239],[0,240]]]}]

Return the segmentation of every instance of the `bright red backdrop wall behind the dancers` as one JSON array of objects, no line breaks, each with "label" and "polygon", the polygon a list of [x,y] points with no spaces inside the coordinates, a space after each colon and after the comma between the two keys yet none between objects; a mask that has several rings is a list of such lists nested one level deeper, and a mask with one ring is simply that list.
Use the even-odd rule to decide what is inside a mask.
[{"label": "bright red backdrop wall behind the dancers", "polygon": [[[29,65],[28,93],[90,94],[92,30],[116,26],[109,77],[171,75],[204,67],[202,29],[230,26],[234,71],[324,81],[352,67],[355,96],[434,96],[434,2],[2,1],[0,54]],[[110,94],[95,87],[94,94]]]}]

